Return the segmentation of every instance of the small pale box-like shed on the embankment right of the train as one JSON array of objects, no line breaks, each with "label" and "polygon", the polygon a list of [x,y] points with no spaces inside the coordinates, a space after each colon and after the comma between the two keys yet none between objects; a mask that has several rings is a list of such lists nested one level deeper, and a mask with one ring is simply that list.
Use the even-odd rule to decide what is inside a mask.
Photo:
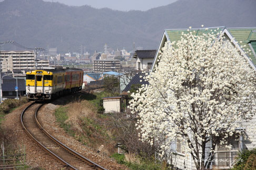
[{"label": "small pale box-like shed on the embankment right of the train", "polygon": [[102,99],[103,99],[103,107],[105,109],[105,113],[121,111],[122,97],[106,97]]}]

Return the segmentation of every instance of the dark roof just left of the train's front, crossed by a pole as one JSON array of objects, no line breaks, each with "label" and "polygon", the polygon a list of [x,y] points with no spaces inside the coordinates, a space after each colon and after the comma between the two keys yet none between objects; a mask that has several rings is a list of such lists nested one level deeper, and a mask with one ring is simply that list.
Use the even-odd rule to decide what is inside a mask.
[{"label": "dark roof just left of the train's front, crossed by a pole", "polygon": [[[5,76],[7,77],[7,76]],[[15,91],[16,87],[16,79],[7,79],[3,80],[3,91]],[[25,79],[18,79],[18,91],[25,91],[26,90],[26,80]]]}]

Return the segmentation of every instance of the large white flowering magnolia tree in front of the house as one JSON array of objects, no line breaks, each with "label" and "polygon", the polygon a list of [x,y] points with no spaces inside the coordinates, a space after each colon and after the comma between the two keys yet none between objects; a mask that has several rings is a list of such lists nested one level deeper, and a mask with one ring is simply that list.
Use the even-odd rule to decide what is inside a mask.
[{"label": "large white flowering magnolia tree in front of the house", "polygon": [[166,42],[145,78],[149,85],[130,101],[139,115],[140,139],[152,145],[161,141],[160,155],[171,151],[172,142],[183,141],[197,169],[210,167],[216,143],[227,144],[253,112],[255,72],[235,42],[232,48],[223,44],[221,32],[195,36],[191,30]]}]

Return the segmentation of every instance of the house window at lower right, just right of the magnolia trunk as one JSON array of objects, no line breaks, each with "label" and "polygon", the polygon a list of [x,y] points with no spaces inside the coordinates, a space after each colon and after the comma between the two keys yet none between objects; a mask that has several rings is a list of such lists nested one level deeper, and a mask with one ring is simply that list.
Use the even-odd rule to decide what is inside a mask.
[{"label": "house window at lower right, just right of the magnolia trunk", "polygon": [[[227,145],[231,145],[231,150]],[[216,144],[213,166],[218,168],[232,167],[237,152],[239,151],[239,140],[230,139],[227,145]]]}]

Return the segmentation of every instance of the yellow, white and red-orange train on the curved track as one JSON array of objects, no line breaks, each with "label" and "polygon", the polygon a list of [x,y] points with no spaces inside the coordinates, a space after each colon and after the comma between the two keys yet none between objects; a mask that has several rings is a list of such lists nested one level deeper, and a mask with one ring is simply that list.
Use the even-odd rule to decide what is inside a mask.
[{"label": "yellow, white and red-orange train on the curved track", "polygon": [[29,100],[50,100],[63,94],[80,91],[83,70],[38,69],[26,72],[26,95]]}]

